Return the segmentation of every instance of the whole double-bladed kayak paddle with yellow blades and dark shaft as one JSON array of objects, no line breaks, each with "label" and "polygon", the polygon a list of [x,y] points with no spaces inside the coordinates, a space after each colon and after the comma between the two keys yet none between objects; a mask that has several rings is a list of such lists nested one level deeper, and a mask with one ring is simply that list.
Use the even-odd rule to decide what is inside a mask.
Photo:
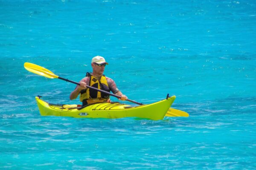
[{"label": "whole double-bladed kayak paddle with yellow blades and dark shaft", "polygon": [[[78,83],[78,82],[74,82],[74,81],[72,81],[72,80],[59,77],[59,76],[55,75],[54,73],[52,73],[52,71],[49,71],[48,69],[46,69],[46,68],[44,68],[44,67],[41,67],[41,66],[39,66],[39,65],[35,65],[35,64],[29,63],[29,62],[25,62],[25,63],[24,63],[24,68],[26,68],[26,70],[28,70],[28,71],[30,71],[30,72],[32,72],[32,73],[35,73],[35,74],[38,74],[38,75],[41,75],[41,76],[44,76],[44,77],[47,77],[47,78],[50,78],[50,79],[58,78],[58,79],[65,80],[65,81],[67,81],[67,82],[72,82],[72,83],[74,83],[74,84],[76,84],[76,85],[80,85],[80,83]],[[100,91],[100,92],[105,93],[105,94],[108,94],[108,95],[110,95],[110,96],[114,96],[114,97],[119,98],[119,99],[121,98],[121,96],[117,96],[117,95],[115,95],[115,94],[111,94],[111,93],[109,93],[109,92],[107,92],[107,91],[103,91],[103,90],[100,90],[100,89],[98,89],[98,88],[91,87],[91,86],[89,86],[89,85],[86,85],[86,87],[87,87],[87,88],[94,89],[94,90],[96,90],[96,91]],[[135,102],[135,101],[130,100],[130,99],[126,99],[126,100],[129,101],[129,102],[133,102],[133,103],[135,103],[135,104],[137,104],[137,105],[143,105],[142,103]],[[177,109],[172,109],[172,108],[170,108],[170,109],[167,111],[166,116],[184,116],[184,115],[185,115],[185,117],[187,117],[187,116],[188,116],[188,113],[186,113],[186,114],[185,114],[185,113],[186,113],[186,112],[183,112],[183,111],[179,111],[179,110],[177,110]]]}]

